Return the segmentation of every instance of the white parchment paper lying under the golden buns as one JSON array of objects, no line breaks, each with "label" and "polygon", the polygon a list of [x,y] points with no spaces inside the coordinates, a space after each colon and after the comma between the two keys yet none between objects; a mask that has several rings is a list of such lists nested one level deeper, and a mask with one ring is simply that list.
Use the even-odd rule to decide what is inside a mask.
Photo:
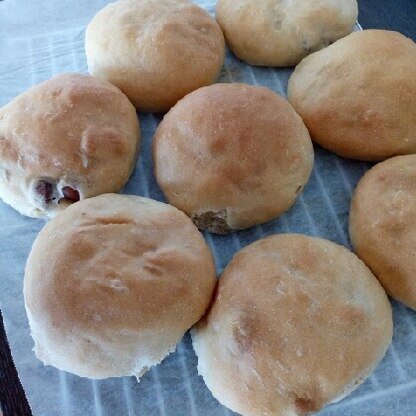
[{"label": "white parchment paper lying under the golden buns", "polygon": [[[60,72],[87,72],[85,25],[107,0],[0,1],[0,106]],[[196,2],[211,13],[214,1]],[[249,67],[230,53],[222,82],[264,85],[285,95],[290,70]],[[161,116],[140,114],[143,144],[123,192],[164,200],[153,177],[150,143]],[[319,147],[310,182],[279,219],[226,237],[206,234],[220,273],[241,247],[270,234],[298,232],[349,248],[351,193],[369,164],[339,158]],[[134,378],[91,381],[44,367],[32,352],[22,281],[26,258],[41,220],[22,217],[0,202],[0,307],[16,366],[35,416],[222,416],[222,407],[197,375],[187,334],[174,354],[137,383]],[[45,258],[43,261],[47,262]],[[394,309],[394,341],[375,373],[352,395],[329,406],[326,416],[416,415],[416,313]]]}]

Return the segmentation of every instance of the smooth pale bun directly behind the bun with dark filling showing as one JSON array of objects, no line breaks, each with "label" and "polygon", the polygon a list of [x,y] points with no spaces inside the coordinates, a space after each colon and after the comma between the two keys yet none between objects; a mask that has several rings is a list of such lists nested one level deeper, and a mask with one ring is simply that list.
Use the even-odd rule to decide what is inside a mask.
[{"label": "smooth pale bun directly behind the bun with dark filling showing", "polygon": [[88,69],[117,85],[142,111],[167,111],[213,83],[224,62],[216,21],[187,0],[119,0],[85,34]]}]

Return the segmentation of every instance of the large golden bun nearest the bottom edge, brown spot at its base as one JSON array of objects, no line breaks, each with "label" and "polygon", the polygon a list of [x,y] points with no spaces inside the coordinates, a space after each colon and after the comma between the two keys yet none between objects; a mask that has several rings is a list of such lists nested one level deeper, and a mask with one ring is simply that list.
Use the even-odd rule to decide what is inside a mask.
[{"label": "large golden bun nearest the bottom edge, brown spot at its base", "polygon": [[317,412],[384,356],[392,311],[370,270],[330,241],[276,235],[234,256],[192,333],[198,371],[243,416]]}]

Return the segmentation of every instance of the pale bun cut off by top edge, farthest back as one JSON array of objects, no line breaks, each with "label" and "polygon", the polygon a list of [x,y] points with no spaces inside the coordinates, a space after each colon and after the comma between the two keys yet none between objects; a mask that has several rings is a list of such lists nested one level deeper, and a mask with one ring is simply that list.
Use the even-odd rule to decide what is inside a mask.
[{"label": "pale bun cut off by top edge, farthest back", "polygon": [[356,0],[218,0],[216,17],[234,54],[251,65],[296,65],[354,29]]}]

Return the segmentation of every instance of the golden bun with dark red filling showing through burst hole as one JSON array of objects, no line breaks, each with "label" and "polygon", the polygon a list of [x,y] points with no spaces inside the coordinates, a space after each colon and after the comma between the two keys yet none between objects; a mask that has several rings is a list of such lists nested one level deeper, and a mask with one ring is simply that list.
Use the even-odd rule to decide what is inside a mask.
[{"label": "golden bun with dark red filling showing through burst hole", "polygon": [[106,81],[62,74],[0,109],[0,198],[50,218],[72,202],[116,192],[135,166],[135,108]]}]

